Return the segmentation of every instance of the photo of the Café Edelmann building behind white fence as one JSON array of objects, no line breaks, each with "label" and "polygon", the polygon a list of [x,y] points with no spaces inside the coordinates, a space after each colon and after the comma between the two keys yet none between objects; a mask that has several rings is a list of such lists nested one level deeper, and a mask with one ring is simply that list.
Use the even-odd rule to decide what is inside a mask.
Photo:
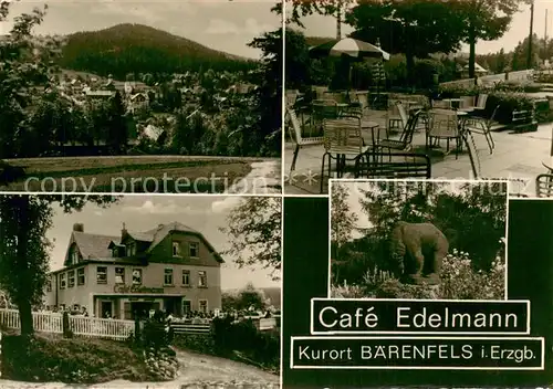
[{"label": "photo of the Caf\u00e9 Edelmann building behind white fence", "polygon": [[2,192],[0,387],[279,388],[281,209]]}]

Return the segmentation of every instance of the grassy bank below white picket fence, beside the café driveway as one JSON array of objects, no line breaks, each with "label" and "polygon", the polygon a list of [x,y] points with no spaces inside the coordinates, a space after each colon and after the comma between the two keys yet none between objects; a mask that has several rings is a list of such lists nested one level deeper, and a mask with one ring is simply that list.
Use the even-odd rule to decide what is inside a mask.
[{"label": "grassy bank below white picket fence, beside the caf\u00e9 driveway", "polygon": [[24,351],[20,336],[4,336],[2,378],[22,381],[98,383],[116,379],[152,381],[144,360],[116,340],[35,334]]}]

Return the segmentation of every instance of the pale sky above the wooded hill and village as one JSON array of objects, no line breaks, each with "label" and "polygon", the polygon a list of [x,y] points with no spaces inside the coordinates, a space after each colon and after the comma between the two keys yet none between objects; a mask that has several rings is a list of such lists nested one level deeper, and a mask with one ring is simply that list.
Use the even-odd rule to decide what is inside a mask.
[{"label": "pale sky above the wooded hill and village", "polygon": [[[247,44],[282,24],[281,17],[271,12],[274,0],[21,0],[11,6],[10,17],[44,3],[48,13],[36,33],[69,34],[139,23],[252,59],[259,59],[261,52]],[[10,29],[11,22],[0,22],[0,34]]]}]

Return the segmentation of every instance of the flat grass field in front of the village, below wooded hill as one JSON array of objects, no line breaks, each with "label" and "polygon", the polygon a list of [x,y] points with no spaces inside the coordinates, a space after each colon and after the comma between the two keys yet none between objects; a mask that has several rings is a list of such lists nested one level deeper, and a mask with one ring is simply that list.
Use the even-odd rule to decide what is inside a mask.
[{"label": "flat grass field in front of the village, below wooded hill", "polygon": [[257,158],[189,156],[7,159],[25,176],[7,191],[221,193],[251,171]]}]

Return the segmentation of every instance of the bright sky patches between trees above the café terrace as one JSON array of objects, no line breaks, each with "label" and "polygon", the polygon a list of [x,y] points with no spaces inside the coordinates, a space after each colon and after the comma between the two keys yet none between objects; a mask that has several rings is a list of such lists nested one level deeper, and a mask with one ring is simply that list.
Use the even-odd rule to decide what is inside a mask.
[{"label": "bright sky patches between trees above the caf\u00e9 terrace", "polygon": [[[543,38],[545,33],[545,10],[547,12],[547,35],[553,38],[553,0],[535,0],[534,6],[534,33]],[[311,36],[336,36],[336,21],[331,17],[312,15],[302,19],[306,35]],[[352,32],[348,25],[342,25],[342,35]],[[530,33],[530,6],[524,6],[521,11],[513,17],[510,30],[499,40],[492,42],[479,41],[477,43],[477,54],[494,53],[502,48],[505,52],[512,51],[520,41]],[[372,42],[373,43],[373,42]],[[465,45],[461,49],[468,52]]]}]

